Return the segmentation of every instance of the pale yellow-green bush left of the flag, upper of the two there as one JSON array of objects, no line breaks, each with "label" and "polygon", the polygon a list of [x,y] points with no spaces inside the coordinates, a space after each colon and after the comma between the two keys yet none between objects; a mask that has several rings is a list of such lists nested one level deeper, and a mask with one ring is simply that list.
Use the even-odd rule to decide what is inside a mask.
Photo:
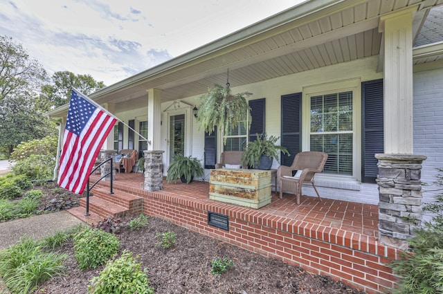
[{"label": "pale yellow-green bush left of the flag, upper of the two there", "polygon": [[20,143],[12,151],[10,158],[19,161],[31,155],[41,154],[50,154],[52,157],[57,155],[57,136],[46,136],[42,139]]}]

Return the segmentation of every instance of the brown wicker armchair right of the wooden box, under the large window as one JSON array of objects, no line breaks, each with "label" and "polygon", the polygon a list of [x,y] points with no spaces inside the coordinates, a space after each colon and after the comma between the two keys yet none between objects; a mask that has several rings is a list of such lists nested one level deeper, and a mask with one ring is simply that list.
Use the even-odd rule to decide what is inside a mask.
[{"label": "brown wicker armchair right of the wooden box, under the large window", "polygon": [[[311,183],[317,193],[318,200],[321,201],[314,176],[317,172],[322,172],[327,160],[327,154],[319,151],[303,151],[296,155],[290,167],[280,165],[277,170],[277,178],[280,184],[280,199],[282,192],[291,192],[296,194],[297,204],[300,204],[303,183]],[[293,176],[293,171],[298,171]]]}]

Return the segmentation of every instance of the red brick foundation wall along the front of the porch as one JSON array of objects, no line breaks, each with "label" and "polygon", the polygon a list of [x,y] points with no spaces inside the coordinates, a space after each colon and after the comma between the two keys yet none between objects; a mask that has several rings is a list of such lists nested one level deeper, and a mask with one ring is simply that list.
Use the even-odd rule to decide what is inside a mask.
[{"label": "red brick foundation wall along the front of the porch", "polygon": [[[214,201],[137,191],[143,212],[260,255],[329,275],[368,294],[384,293],[396,277],[386,263],[400,250],[374,238]],[[229,217],[229,231],[208,226],[208,211]]]}]

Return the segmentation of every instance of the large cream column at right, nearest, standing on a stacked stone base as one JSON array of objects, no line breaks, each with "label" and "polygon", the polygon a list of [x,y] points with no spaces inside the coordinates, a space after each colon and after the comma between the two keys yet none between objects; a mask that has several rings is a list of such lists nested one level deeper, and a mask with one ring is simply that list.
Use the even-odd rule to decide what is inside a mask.
[{"label": "large cream column at right, nearest, standing on a stacked stone base", "polygon": [[380,17],[384,57],[385,154],[413,154],[413,15],[417,8]]}]

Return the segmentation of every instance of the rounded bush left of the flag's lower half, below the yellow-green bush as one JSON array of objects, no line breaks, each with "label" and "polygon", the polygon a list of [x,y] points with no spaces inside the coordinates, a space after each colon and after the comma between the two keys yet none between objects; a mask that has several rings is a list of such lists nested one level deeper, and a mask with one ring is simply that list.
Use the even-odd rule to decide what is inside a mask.
[{"label": "rounded bush left of the flag's lower half, below the yellow-green bush", "polygon": [[55,157],[51,154],[31,154],[23,158],[12,167],[14,174],[24,175],[31,180],[45,180],[53,178]]}]

